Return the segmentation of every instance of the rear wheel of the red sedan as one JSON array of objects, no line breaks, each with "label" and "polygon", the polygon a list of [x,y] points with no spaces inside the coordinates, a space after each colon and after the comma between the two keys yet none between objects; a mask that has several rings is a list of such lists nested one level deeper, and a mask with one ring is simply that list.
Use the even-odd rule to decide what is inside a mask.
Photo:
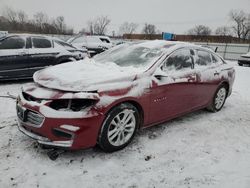
[{"label": "rear wheel of the red sedan", "polygon": [[219,86],[214,94],[212,104],[210,104],[210,106],[207,107],[207,110],[211,112],[220,111],[225,104],[227,93],[228,90],[225,84]]}]

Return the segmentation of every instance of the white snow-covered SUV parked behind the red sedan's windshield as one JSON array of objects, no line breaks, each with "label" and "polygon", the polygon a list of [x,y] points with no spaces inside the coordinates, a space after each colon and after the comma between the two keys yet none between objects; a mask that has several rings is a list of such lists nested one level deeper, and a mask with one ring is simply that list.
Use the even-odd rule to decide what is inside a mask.
[{"label": "white snow-covered SUV parked behind the red sedan's windshield", "polygon": [[67,42],[78,48],[87,48],[91,56],[101,53],[113,46],[109,37],[100,35],[78,35],[70,38]]}]

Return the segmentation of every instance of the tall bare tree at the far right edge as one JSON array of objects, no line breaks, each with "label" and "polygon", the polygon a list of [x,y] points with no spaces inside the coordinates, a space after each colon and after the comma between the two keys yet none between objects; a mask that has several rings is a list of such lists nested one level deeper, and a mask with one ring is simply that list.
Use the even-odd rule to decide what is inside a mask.
[{"label": "tall bare tree at the far right edge", "polygon": [[232,26],[234,33],[238,38],[246,39],[250,32],[250,15],[242,10],[232,10],[229,16],[234,23]]}]

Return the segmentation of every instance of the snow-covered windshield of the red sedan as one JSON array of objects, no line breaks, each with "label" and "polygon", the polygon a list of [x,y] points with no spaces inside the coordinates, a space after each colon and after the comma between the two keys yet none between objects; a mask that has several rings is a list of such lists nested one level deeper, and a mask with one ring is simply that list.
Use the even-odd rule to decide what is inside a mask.
[{"label": "snow-covered windshield of the red sedan", "polygon": [[94,57],[100,63],[113,62],[122,67],[147,67],[155,62],[172,45],[155,42],[126,43]]}]

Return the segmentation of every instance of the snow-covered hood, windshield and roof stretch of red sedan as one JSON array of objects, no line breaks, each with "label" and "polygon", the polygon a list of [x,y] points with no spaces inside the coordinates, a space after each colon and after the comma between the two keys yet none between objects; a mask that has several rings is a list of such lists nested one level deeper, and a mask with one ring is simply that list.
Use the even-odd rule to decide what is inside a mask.
[{"label": "snow-covered hood, windshield and roof stretch of red sedan", "polygon": [[63,91],[124,89],[159,58],[184,46],[194,45],[163,40],[121,45],[93,59],[86,57],[84,60],[37,71],[33,78],[41,86]]}]

